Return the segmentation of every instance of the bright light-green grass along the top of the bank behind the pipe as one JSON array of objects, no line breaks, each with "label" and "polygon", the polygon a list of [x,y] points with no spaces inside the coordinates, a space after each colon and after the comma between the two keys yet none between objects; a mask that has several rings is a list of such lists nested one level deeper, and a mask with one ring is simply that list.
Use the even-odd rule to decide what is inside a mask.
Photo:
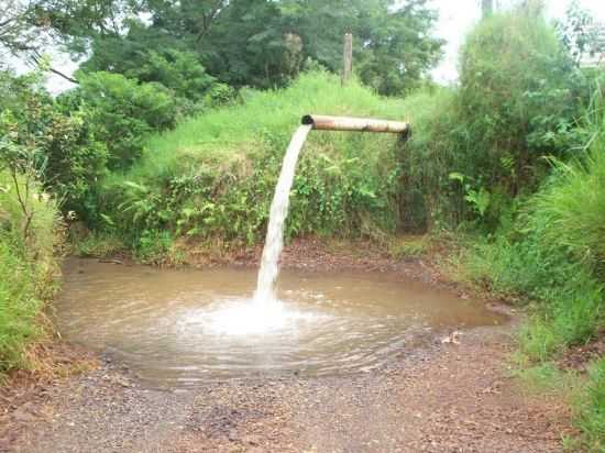
[{"label": "bright light-green grass along the top of the bank behind the pipe", "polygon": [[[400,100],[382,98],[356,82],[340,86],[339,78],[328,73],[304,74],[282,90],[244,91],[243,103],[221,108],[179,124],[174,131],[156,134],[146,144],[143,159],[130,177],[153,178],[184,159],[209,159],[223,163],[254,153],[263,140],[277,136],[286,143],[306,113],[363,115],[403,120]],[[326,143],[311,139],[314,144]],[[338,144],[345,134],[330,134]],[[383,142],[378,135],[372,141]],[[284,150],[285,151],[285,150]],[[369,150],[370,151],[370,150]]]}]

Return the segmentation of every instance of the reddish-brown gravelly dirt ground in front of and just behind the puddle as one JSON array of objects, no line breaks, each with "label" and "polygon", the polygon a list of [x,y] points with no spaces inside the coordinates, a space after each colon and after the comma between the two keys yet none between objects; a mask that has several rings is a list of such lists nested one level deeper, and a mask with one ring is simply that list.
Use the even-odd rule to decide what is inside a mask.
[{"label": "reddish-brown gravelly dirt ground in front of and just behind the puddle", "polygon": [[[326,256],[316,263],[342,264],[320,247],[317,254]],[[285,256],[297,266],[292,247]],[[399,268],[439,284],[422,262]],[[190,390],[144,388],[124,364],[101,357],[89,373],[4,387],[0,451],[559,452],[569,409],[512,377],[515,322],[422,339],[370,373],[231,379]]]}]

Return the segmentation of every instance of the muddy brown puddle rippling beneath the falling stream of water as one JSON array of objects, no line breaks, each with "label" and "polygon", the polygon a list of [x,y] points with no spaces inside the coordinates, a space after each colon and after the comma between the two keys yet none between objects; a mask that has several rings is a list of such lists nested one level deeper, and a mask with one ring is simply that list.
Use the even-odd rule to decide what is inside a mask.
[{"label": "muddy brown puddle rippling beneath the falling stream of water", "polygon": [[284,270],[273,308],[254,269],[160,269],[72,259],[55,317],[62,335],[183,388],[231,377],[366,372],[432,332],[498,324],[475,300],[384,273]]}]

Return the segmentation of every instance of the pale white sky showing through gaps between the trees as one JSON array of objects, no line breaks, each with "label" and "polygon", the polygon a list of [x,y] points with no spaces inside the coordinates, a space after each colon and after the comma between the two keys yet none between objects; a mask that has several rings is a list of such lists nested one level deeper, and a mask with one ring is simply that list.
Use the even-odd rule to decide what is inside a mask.
[{"label": "pale white sky showing through gaps between the trees", "polygon": [[[494,0],[496,5],[506,5],[513,0]],[[569,3],[572,0],[546,0],[549,18],[563,18]],[[431,4],[439,11],[439,21],[436,26],[436,35],[446,40],[444,56],[441,63],[432,70],[432,77],[441,84],[454,82],[458,78],[457,60],[458,51],[464,40],[464,35],[481,18],[481,0],[431,0]],[[580,0],[580,4],[593,12],[594,16],[605,22],[605,0]],[[18,70],[26,70],[26,66],[16,62]],[[77,64],[69,60],[67,55],[56,54],[53,57],[53,66],[65,74],[72,74]],[[58,77],[48,78],[48,89],[58,93],[73,87],[73,84]]]}]

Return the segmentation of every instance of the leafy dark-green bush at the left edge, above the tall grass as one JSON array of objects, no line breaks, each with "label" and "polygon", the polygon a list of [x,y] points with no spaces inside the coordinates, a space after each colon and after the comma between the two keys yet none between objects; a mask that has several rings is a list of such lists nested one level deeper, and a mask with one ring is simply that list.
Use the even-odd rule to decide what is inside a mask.
[{"label": "leafy dark-green bush at the left edge, above the tall grass", "polygon": [[0,74],[0,159],[36,173],[65,211],[86,216],[87,200],[106,170],[106,145],[89,111],[64,113],[41,87],[40,74]]}]

